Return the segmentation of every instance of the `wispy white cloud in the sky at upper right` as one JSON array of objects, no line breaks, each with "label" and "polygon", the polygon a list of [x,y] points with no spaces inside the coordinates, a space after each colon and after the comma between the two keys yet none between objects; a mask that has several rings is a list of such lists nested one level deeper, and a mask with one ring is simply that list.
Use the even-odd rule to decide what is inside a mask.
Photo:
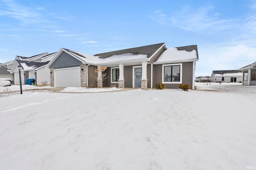
[{"label": "wispy white cloud in the sky at upper right", "polygon": [[185,31],[216,32],[232,27],[230,20],[219,18],[219,14],[214,12],[214,6],[192,9],[187,5],[173,14],[164,14],[162,11],[156,10],[150,18],[161,24],[179,27]]}]

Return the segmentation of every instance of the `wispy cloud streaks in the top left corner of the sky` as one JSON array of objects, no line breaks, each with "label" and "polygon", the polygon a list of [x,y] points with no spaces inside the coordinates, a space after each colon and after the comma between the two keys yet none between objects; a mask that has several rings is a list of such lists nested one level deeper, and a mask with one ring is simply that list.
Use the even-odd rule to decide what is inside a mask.
[{"label": "wispy cloud streaks in the top left corner of the sky", "polygon": [[0,16],[9,16],[20,20],[22,24],[39,23],[47,21],[40,13],[33,11],[31,8],[16,4],[12,0],[3,0],[0,8]]}]

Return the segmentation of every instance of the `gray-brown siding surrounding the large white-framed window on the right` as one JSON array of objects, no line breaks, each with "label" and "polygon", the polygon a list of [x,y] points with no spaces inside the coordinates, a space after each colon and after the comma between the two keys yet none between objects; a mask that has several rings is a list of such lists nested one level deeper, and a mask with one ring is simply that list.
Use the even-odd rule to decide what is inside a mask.
[{"label": "gray-brown siding surrounding the large white-framed window on the right", "polygon": [[[162,64],[154,65],[153,87],[156,83],[162,83]],[[182,63],[182,84],[189,84],[192,89],[193,83],[193,62]],[[165,84],[166,88],[179,88],[179,84]]]}]

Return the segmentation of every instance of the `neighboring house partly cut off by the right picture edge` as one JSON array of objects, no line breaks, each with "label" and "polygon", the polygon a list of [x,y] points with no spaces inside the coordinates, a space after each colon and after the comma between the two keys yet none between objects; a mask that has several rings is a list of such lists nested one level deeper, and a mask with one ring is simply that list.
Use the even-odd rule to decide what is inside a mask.
[{"label": "neighboring house partly cut off by the right picture edge", "polygon": [[256,86],[256,62],[239,68],[243,74],[243,85]]}]

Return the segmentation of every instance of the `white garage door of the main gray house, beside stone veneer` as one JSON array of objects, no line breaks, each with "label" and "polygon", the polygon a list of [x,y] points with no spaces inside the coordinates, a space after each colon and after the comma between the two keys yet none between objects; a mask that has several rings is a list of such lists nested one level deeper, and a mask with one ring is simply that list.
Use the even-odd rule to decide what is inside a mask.
[{"label": "white garage door of the main gray house, beside stone veneer", "polygon": [[80,67],[56,69],[55,87],[80,87]]}]

